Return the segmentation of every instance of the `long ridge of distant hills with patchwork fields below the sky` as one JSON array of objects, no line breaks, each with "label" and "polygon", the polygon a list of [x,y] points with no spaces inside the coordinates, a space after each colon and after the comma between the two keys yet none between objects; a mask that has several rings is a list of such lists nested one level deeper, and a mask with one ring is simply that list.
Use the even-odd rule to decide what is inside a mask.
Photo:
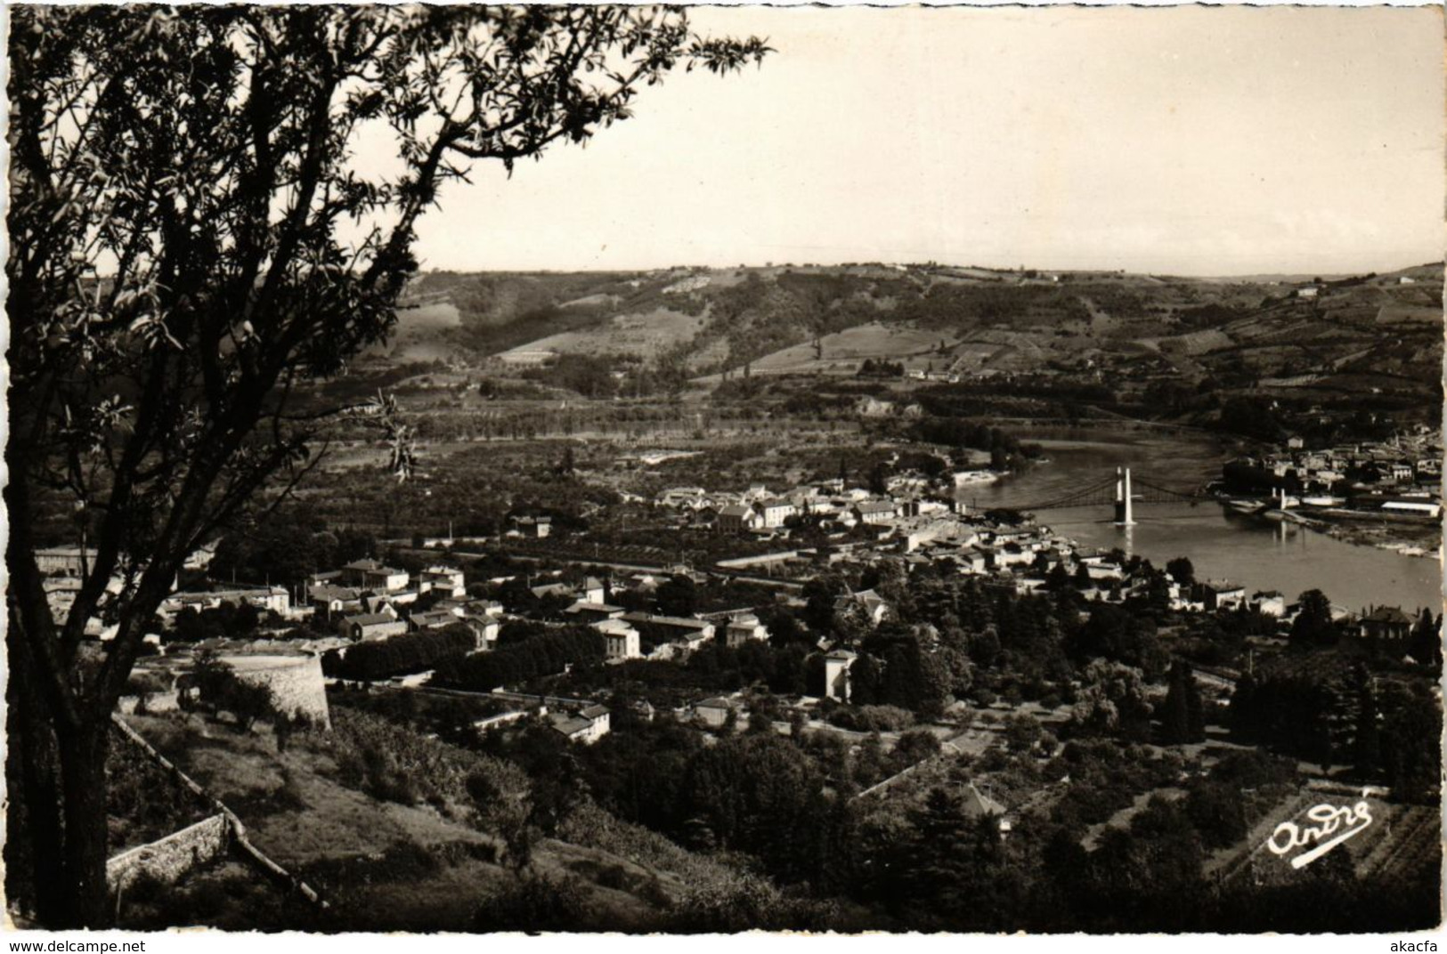
[{"label": "long ridge of distant hills with patchwork fields below the sky", "polygon": [[968,392],[949,413],[1104,412],[1263,439],[1435,424],[1441,265],[1286,278],[878,263],[434,272],[412,282],[388,345],[326,393],[395,389],[443,435],[476,435],[479,411],[531,432],[519,400],[757,405],[760,380],[797,412],[820,376],[861,373]]}]

